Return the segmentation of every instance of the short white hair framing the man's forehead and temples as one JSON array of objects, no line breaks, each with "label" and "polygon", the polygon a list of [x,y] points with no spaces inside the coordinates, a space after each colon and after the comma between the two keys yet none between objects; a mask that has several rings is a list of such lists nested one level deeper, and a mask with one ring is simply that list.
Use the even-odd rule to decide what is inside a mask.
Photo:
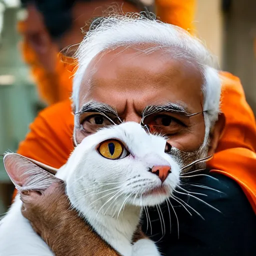
[{"label": "short white hair framing the man's forehead and temples", "polygon": [[[148,50],[145,50],[147,53],[153,48],[161,48],[166,53],[171,52],[170,57],[188,60],[192,58],[197,63],[204,80],[203,110],[207,110],[204,113],[204,122],[205,135],[208,137],[210,128],[218,118],[220,101],[220,79],[214,68],[214,58],[199,39],[178,26],[156,20],[153,14],[147,17],[143,13],[111,15],[98,18],[92,23],[76,52],[78,68],[73,80],[72,94],[75,111],[79,110],[79,87],[90,61],[104,50],[138,44],[155,45],[149,45]],[[178,49],[177,54],[171,50],[173,48]]]}]

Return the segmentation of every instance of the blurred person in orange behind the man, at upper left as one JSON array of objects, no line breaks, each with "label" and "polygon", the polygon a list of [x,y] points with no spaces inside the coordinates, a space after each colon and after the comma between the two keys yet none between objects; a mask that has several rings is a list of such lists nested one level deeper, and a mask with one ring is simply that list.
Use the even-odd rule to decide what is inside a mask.
[{"label": "blurred person in orange behind the man, at upper left", "polygon": [[23,36],[21,51],[31,69],[41,99],[48,105],[67,99],[72,88],[73,64],[58,54],[68,45],[79,43],[89,21],[102,16],[110,5],[124,13],[141,11],[139,1],[117,0],[22,0],[27,11],[18,23]]}]

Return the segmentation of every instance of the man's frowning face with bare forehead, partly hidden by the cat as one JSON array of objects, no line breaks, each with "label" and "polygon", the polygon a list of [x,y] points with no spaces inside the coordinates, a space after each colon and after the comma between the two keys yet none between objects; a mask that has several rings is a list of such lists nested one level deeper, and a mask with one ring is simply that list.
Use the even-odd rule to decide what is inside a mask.
[{"label": "man's frowning face with bare forehead, partly hidden by the cat", "polygon": [[88,107],[88,101],[107,104],[121,120],[135,122],[146,114],[146,107],[154,105],[167,109],[149,115],[145,122],[160,127],[172,146],[187,152],[198,150],[204,140],[203,114],[186,114],[203,110],[202,83],[195,63],[171,58],[171,53],[163,54],[161,49],[144,54],[120,47],[100,53],[87,67],[80,86],[79,109],[85,112],[78,117],[76,141],[95,127],[110,124],[97,115],[98,108]]}]

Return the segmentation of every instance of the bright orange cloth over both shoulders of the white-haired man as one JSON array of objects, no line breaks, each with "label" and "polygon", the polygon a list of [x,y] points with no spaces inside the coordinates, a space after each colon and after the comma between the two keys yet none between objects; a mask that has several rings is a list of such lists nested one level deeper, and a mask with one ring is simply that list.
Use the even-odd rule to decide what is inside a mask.
[{"label": "bright orange cloth over both shoulders of the white-haired man", "polygon": [[[246,103],[239,79],[222,72],[222,111],[225,130],[214,157],[212,171],[221,172],[242,187],[256,212],[256,125]],[[73,114],[65,100],[41,111],[30,125],[30,132],[19,145],[18,153],[59,168],[73,149]]]}]

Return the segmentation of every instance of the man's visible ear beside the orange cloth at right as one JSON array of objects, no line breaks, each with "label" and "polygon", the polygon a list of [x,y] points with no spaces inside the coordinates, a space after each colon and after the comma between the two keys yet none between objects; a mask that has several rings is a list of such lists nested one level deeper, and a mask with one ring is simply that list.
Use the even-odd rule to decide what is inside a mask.
[{"label": "man's visible ear beside the orange cloth at right", "polygon": [[208,155],[213,155],[215,149],[217,147],[218,141],[223,135],[225,127],[225,115],[223,113],[219,113],[218,120],[216,121],[214,128],[210,131],[210,143],[208,149]]}]

